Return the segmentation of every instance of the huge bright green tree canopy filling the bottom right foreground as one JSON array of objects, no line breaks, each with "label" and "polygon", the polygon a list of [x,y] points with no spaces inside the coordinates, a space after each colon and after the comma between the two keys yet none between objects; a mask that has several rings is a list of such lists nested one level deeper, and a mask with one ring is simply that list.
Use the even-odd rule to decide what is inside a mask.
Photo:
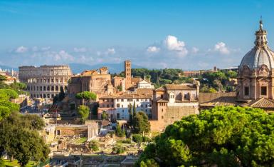
[{"label": "huge bright green tree canopy filling the bottom right foreground", "polygon": [[216,107],[167,126],[138,166],[274,166],[274,114]]}]

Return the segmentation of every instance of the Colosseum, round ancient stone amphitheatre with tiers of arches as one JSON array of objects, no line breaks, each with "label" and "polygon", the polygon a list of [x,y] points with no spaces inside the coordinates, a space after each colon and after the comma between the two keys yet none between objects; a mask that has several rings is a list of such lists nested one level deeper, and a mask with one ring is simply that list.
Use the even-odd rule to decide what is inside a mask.
[{"label": "Colosseum, round ancient stone amphitheatre with tiers of arches", "polygon": [[61,88],[66,91],[72,75],[67,65],[19,66],[19,80],[26,83],[31,98],[53,98]]}]

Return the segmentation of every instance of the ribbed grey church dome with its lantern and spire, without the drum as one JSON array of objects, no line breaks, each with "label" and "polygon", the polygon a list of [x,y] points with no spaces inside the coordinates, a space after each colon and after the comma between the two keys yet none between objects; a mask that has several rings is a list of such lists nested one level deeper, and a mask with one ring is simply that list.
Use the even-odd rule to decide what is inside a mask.
[{"label": "ribbed grey church dome with its lantern and spire, without the drum", "polygon": [[255,46],[243,57],[240,69],[248,66],[253,71],[253,69],[260,69],[262,65],[267,66],[268,69],[274,69],[274,52],[267,45],[266,35],[267,31],[263,30],[263,22],[260,21],[260,29],[255,32]]}]

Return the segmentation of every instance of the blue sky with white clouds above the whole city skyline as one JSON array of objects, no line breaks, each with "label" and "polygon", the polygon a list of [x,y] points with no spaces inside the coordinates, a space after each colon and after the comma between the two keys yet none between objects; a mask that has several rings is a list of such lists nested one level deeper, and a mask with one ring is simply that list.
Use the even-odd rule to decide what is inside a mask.
[{"label": "blue sky with white clouds above the whole city skyline", "polygon": [[274,1],[1,1],[0,66],[238,66],[263,16],[274,46]]}]

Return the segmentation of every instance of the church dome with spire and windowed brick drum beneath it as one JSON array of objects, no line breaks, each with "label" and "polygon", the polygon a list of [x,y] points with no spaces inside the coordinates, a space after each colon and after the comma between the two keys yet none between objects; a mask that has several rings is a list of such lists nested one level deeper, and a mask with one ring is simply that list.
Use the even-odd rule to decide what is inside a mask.
[{"label": "church dome with spire and windowed brick drum beneath it", "polygon": [[274,98],[274,52],[268,47],[263,21],[255,32],[255,46],[238,66],[238,99]]}]

